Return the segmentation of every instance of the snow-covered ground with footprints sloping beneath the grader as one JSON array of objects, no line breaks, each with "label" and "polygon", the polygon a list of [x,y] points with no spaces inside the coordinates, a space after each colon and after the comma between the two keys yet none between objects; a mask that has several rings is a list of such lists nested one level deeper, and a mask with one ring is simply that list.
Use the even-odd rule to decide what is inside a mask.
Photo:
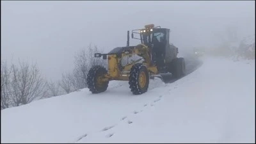
[{"label": "snow-covered ground with footprints sloping beneath the grader", "polygon": [[255,142],[255,61],[205,58],[186,77],[150,81],[132,95],[127,81],[1,111],[1,143]]}]

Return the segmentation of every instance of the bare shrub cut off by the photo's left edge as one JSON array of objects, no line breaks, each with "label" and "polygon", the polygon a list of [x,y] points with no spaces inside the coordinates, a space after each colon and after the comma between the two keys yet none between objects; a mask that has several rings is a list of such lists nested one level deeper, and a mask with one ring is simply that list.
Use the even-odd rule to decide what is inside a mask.
[{"label": "bare shrub cut off by the photo's left edge", "polygon": [[11,105],[10,74],[6,62],[1,62],[1,109],[9,108]]}]

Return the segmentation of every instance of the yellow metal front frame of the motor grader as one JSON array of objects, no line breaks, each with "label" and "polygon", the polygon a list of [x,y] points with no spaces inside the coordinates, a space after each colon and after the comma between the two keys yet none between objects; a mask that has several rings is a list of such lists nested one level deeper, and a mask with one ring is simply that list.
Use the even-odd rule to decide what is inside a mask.
[{"label": "yellow metal front frame of the motor grader", "polygon": [[[134,61],[129,65],[125,65],[124,67],[122,67],[122,71],[118,67],[118,63],[120,63],[120,61],[122,60],[122,58],[124,58],[124,56],[132,56],[134,54],[141,56],[145,60],[143,61],[143,64],[148,68],[149,74],[157,74],[157,67],[151,64],[149,48],[147,47],[147,45],[139,44],[139,45],[136,45],[134,49],[131,49],[129,54],[122,52],[120,57],[118,57],[116,54],[108,55],[108,74],[100,77],[101,81],[111,81],[111,80],[129,81],[129,71],[131,70],[132,66],[138,61]],[[141,84],[143,83],[144,82],[141,82]]]}]

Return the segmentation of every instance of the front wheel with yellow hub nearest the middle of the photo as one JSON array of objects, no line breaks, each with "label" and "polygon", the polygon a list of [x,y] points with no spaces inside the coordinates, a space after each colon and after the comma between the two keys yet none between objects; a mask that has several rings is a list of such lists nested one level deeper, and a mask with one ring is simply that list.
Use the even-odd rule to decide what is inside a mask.
[{"label": "front wheel with yellow hub nearest the middle of the photo", "polygon": [[149,84],[148,69],[142,63],[136,63],[132,66],[129,75],[129,85],[134,95],[140,95],[147,92]]}]

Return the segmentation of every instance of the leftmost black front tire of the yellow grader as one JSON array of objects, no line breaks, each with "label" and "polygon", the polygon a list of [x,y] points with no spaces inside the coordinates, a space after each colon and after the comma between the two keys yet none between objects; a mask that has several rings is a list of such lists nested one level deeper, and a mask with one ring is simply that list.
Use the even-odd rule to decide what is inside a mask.
[{"label": "leftmost black front tire of the yellow grader", "polygon": [[103,76],[104,74],[108,74],[108,71],[100,65],[90,68],[87,74],[87,85],[90,92],[101,93],[107,90],[109,81],[97,81],[98,77]]}]

